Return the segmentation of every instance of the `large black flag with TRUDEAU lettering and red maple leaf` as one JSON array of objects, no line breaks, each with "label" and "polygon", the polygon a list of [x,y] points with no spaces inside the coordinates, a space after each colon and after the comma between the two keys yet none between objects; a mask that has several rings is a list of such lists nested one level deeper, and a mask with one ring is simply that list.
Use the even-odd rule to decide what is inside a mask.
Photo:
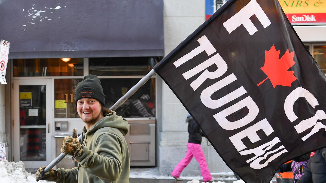
[{"label": "large black flag with TRUDEAU lettering and red maple leaf", "polygon": [[277,0],[229,0],[154,70],[245,182],[326,146],[326,78]]}]

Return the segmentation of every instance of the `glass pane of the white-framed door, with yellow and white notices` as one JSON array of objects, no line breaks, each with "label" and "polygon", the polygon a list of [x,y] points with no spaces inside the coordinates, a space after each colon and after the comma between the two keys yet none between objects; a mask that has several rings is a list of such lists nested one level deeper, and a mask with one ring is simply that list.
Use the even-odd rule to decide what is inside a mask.
[{"label": "glass pane of the white-framed door, with yellow and white notices", "polygon": [[46,161],[46,86],[19,86],[20,160]]}]

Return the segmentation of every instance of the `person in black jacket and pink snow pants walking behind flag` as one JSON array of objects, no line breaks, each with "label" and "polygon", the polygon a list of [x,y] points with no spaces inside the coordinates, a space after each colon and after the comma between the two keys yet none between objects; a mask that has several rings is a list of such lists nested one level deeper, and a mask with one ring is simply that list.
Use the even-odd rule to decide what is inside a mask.
[{"label": "person in black jacket and pink snow pants walking behind flag", "polygon": [[173,169],[171,176],[177,180],[182,180],[180,178],[182,170],[190,163],[192,157],[195,157],[195,159],[199,163],[201,176],[203,176],[203,181],[212,182],[216,179],[212,177],[211,172],[207,167],[205,155],[200,147],[201,137],[205,135],[203,132],[201,132],[198,123],[190,116],[190,114],[187,115],[186,122],[188,122],[189,133],[187,153],[185,157]]}]

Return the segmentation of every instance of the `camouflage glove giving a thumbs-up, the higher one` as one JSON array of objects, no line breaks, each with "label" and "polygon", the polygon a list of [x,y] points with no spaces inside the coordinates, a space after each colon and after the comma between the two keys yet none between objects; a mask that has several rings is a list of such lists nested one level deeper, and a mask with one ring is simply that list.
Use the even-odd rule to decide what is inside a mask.
[{"label": "camouflage glove giving a thumbs-up, the higher one", "polygon": [[79,143],[76,128],[72,132],[72,137],[66,136],[63,140],[61,152],[69,154],[73,158],[82,154],[82,145]]}]

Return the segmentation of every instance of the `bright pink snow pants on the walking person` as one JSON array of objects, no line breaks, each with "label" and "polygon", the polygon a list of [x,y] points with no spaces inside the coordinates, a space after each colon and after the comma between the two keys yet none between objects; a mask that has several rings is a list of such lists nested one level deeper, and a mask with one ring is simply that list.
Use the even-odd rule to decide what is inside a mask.
[{"label": "bright pink snow pants on the walking person", "polygon": [[192,157],[195,157],[199,163],[201,176],[203,176],[203,181],[208,182],[212,180],[211,172],[208,169],[207,162],[203,150],[200,144],[187,143],[187,153],[177,166],[172,171],[171,175],[175,177],[180,177],[182,170],[190,163]]}]

